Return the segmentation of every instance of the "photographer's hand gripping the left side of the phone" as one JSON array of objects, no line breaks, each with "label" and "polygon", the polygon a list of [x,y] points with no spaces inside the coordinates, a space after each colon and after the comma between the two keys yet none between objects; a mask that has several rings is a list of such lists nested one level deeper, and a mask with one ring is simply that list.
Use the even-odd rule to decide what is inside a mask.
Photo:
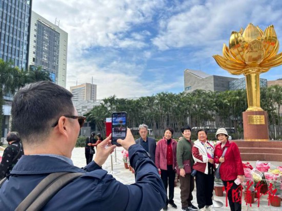
[{"label": "photographer's hand gripping the left side of the phone", "polygon": [[95,163],[99,166],[102,166],[109,155],[114,151],[116,145],[112,145],[111,143],[112,134],[110,134],[104,141],[100,142],[97,145],[97,153],[94,158]]}]

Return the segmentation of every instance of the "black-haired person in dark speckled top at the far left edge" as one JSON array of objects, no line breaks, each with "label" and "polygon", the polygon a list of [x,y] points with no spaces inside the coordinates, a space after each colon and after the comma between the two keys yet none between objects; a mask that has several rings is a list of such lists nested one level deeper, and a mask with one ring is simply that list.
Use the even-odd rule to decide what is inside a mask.
[{"label": "black-haired person in dark speckled top at the far left edge", "polygon": [[24,154],[23,144],[17,132],[10,132],[7,135],[8,146],[4,150],[0,163],[0,179],[7,177],[19,158]]}]

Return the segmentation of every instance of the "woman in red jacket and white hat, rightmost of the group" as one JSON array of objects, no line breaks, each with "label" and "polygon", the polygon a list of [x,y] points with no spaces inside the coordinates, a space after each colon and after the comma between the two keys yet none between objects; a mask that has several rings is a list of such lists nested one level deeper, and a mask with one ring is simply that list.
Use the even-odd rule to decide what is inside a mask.
[{"label": "woman in red jacket and white hat, rightmost of the group", "polygon": [[[239,182],[242,183],[244,181],[244,169],[243,164],[241,161],[240,152],[238,146],[234,142],[229,142],[228,140],[228,133],[224,128],[219,128],[216,132],[215,137],[221,142],[215,146],[214,151],[214,162],[221,163],[219,168],[220,178],[224,183],[225,189],[228,190],[228,201],[230,210],[232,211],[240,211],[241,210],[241,201],[233,202],[232,199],[232,192],[233,196],[236,198],[239,197],[239,188],[238,185],[234,182],[237,178]],[[225,156],[223,155],[224,150]],[[231,187],[230,187],[231,186]],[[236,191],[235,191],[236,190]],[[234,198],[233,197],[233,198]]]}]

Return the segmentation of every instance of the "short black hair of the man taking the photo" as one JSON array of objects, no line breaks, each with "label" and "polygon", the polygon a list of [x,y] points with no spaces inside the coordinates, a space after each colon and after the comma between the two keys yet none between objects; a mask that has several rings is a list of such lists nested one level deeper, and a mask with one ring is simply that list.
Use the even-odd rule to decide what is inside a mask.
[{"label": "short black hair of the man taking the photo", "polygon": [[[17,91],[12,102],[12,128],[23,141],[44,141],[52,124],[63,115],[73,115],[72,94],[51,81],[30,83]],[[40,138],[39,138],[40,137]]]}]

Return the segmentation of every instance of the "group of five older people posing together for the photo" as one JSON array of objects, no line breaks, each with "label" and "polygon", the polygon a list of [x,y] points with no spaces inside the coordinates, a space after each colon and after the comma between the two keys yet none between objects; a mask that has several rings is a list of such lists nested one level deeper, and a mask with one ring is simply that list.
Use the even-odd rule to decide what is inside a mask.
[{"label": "group of five older people posing together for the photo", "polygon": [[[207,132],[203,129],[197,131],[196,141],[191,140],[189,125],[181,128],[182,137],[178,142],[172,138],[173,132],[172,128],[166,128],[164,138],[156,142],[155,139],[147,137],[148,126],[141,124],[139,125],[140,138],[135,140],[151,155],[166,191],[169,188],[163,209],[167,210],[168,205],[177,208],[173,200],[176,170],[179,175],[182,210],[212,210],[215,164],[221,163],[219,173],[226,189],[228,186],[230,210],[241,210],[241,201],[235,201],[232,193],[239,196],[238,185],[240,184],[237,185],[234,181],[237,178],[241,183],[244,181],[244,169],[238,146],[228,140],[226,129],[217,130],[215,136],[220,143],[216,146],[208,141]],[[192,204],[194,180],[198,207]]]}]

